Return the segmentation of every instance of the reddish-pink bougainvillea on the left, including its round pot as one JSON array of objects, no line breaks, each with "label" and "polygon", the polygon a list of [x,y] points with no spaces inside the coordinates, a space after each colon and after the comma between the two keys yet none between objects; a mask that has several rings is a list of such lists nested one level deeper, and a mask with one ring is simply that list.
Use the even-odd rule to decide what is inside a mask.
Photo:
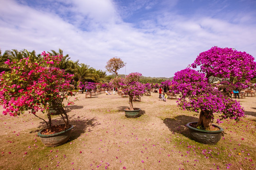
[{"label": "reddish-pink bougainvillea on the left, including its round pot", "polygon": [[[61,55],[51,56],[44,51],[42,56],[43,61],[29,56],[18,61],[5,62],[11,70],[0,74],[0,104],[5,109],[4,115],[16,116],[26,110],[36,117],[38,111],[46,113],[48,120],[38,117],[47,125],[38,132],[38,136],[46,146],[55,146],[64,144],[73,128],[69,124],[64,105],[64,100],[73,96],[73,75],[54,67],[62,59]],[[73,102],[68,101],[67,105],[70,104]],[[63,125],[52,126],[52,109],[58,112],[64,121]]]}]

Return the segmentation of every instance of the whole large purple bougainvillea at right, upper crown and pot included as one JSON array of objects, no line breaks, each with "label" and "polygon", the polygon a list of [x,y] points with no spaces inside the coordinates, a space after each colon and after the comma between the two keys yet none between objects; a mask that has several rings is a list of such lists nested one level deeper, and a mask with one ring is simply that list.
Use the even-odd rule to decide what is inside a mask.
[{"label": "whole large purple bougainvillea at right, upper crown and pot included", "polygon": [[[201,66],[199,72],[190,68],[176,72],[172,90],[180,95],[178,106],[181,109],[200,113],[198,122],[187,124],[192,138],[201,143],[215,144],[223,129],[214,125],[219,130],[210,131],[214,114],[219,113],[217,123],[228,118],[239,120],[244,116],[244,109],[236,100],[215,90],[208,82],[209,77],[225,78],[232,83],[240,82],[241,85],[256,76],[256,62],[246,52],[212,47],[209,51],[200,53],[192,68],[197,66]],[[193,124],[196,125],[192,127]]]}]

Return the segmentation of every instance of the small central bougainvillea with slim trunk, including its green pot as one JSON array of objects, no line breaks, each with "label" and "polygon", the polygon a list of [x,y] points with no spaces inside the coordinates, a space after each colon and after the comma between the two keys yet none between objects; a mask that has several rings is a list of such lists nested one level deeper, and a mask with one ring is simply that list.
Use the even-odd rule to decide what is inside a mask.
[{"label": "small central bougainvillea with slim trunk, including its green pot", "polygon": [[145,85],[138,82],[140,73],[131,73],[125,77],[123,84],[123,93],[129,96],[128,109],[124,109],[125,115],[128,118],[136,118],[139,115],[140,109],[133,108],[132,100],[134,97],[140,96],[145,92]]}]

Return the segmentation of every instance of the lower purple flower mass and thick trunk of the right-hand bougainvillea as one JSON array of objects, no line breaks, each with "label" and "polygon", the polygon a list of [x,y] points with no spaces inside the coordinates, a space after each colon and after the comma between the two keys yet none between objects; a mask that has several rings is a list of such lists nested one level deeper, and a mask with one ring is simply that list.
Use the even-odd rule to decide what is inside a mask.
[{"label": "lower purple flower mass and thick trunk of the right-hand bougainvillea", "polygon": [[183,110],[200,112],[197,127],[210,129],[214,113],[220,113],[221,119],[239,120],[244,116],[244,109],[239,102],[225,97],[215,90],[204,74],[186,68],[174,74],[173,91],[180,95],[177,103]]}]

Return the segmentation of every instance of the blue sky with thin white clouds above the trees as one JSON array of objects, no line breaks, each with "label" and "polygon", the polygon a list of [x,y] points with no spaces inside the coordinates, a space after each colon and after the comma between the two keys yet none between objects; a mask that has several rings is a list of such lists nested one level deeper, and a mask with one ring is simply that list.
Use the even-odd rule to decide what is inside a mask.
[{"label": "blue sky with thin white clouds above the trees", "polygon": [[[256,56],[256,0],[0,0],[0,49],[62,49],[119,74],[171,77],[212,46]],[[109,74],[109,73],[108,73]]]}]

